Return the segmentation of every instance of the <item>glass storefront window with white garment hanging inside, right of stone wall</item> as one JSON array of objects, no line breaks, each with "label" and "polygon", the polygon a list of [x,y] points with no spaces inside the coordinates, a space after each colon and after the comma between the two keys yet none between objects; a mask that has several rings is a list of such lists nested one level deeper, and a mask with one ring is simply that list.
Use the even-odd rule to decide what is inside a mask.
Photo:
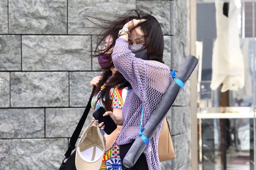
[{"label": "glass storefront window with white garment hanging inside, right of stone wall", "polygon": [[197,0],[199,170],[256,170],[255,4]]}]

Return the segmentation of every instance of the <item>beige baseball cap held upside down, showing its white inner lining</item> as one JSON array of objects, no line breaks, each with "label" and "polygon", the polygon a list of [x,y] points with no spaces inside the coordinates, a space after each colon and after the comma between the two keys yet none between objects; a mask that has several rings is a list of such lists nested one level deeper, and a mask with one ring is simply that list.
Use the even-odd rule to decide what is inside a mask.
[{"label": "beige baseball cap held upside down, showing its white inner lining", "polygon": [[105,153],[105,137],[94,121],[85,129],[76,148],[77,170],[98,170]]}]

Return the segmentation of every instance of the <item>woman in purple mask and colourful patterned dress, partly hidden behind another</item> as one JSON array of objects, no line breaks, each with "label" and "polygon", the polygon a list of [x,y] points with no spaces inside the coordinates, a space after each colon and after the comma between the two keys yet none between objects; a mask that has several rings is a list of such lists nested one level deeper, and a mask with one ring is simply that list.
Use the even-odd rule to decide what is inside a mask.
[{"label": "woman in purple mask and colourful patterned dress, partly hidden behind another", "polygon": [[[98,57],[99,65],[103,69],[101,76],[96,76],[90,82],[91,88],[96,86],[91,106],[93,110],[103,107],[107,111],[111,111],[115,116],[122,116],[122,108],[125,98],[129,92],[129,82],[116,70],[111,59],[112,50],[109,48],[113,39],[107,36],[103,50],[95,57]],[[98,122],[97,122],[98,123]],[[122,126],[110,135],[104,134],[106,139],[106,154],[103,157],[100,170],[121,170],[121,160],[119,155],[119,147],[116,146],[117,137]],[[104,132],[103,132],[104,133]]]}]

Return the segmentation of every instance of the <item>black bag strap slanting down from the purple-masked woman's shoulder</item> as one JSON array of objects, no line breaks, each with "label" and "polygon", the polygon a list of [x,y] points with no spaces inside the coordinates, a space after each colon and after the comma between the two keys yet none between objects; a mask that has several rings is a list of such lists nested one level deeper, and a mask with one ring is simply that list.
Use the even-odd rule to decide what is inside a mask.
[{"label": "black bag strap slanting down from the purple-masked woman's shoulder", "polygon": [[78,140],[78,137],[81,133],[83,125],[85,124],[85,120],[86,120],[88,113],[91,109],[92,95],[93,95],[93,92],[95,91],[95,89],[96,89],[96,86],[93,87],[92,94],[91,94],[90,99],[86,105],[85,111],[83,112],[83,115],[82,115],[81,119],[79,120],[78,125],[76,126],[76,129],[73,132],[73,135],[71,136],[71,138],[69,140],[69,147],[65,153],[65,158],[63,159],[62,164],[64,164],[66,162],[66,160],[70,157],[72,150],[75,149],[76,141]]}]

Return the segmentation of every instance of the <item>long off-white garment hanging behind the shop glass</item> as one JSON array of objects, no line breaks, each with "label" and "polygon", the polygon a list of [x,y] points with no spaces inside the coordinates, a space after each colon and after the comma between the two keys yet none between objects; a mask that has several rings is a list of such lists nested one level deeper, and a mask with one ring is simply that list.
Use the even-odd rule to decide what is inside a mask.
[{"label": "long off-white garment hanging behind the shop glass", "polygon": [[214,42],[211,89],[223,84],[221,92],[237,91],[244,86],[244,61],[240,50],[238,16],[240,0],[229,1],[227,10],[224,2],[215,0],[217,38]]}]

